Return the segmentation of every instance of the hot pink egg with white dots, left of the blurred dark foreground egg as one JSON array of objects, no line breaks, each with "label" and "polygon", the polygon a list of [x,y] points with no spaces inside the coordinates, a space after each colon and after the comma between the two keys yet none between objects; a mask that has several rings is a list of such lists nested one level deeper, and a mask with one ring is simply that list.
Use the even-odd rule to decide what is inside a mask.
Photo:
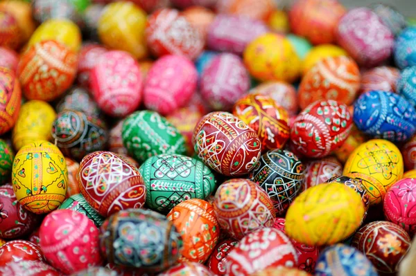
[{"label": "hot pink egg with white dots, left of the blurred dark foreground egg", "polygon": [[98,234],[85,214],[56,210],[40,226],[40,248],[53,267],[71,274],[102,263]]}]

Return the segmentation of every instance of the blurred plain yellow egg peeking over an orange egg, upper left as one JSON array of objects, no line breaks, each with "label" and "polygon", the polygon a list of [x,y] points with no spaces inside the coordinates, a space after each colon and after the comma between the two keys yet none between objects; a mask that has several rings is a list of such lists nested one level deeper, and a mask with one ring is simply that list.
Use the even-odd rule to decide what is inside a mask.
[{"label": "blurred plain yellow egg peeking over an orange egg, upper left", "polygon": [[80,28],[67,19],[49,19],[44,21],[33,33],[28,46],[44,40],[56,40],[78,52],[81,47]]}]

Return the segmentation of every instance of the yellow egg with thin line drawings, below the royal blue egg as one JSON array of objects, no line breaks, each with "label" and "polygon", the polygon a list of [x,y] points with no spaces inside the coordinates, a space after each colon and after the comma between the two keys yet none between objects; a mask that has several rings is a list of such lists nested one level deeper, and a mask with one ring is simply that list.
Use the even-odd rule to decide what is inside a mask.
[{"label": "yellow egg with thin line drawings, below the royal blue egg", "polygon": [[403,157],[388,140],[373,139],[354,149],[345,163],[345,176],[361,179],[370,205],[381,203],[388,189],[403,177]]}]

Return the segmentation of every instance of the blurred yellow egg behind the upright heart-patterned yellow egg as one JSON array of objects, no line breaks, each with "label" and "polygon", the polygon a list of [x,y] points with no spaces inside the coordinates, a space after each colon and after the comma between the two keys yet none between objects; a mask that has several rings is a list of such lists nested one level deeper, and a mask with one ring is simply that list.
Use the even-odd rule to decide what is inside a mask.
[{"label": "blurred yellow egg behind the upright heart-patterned yellow egg", "polygon": [[29,142],[51,140],[55,110],[47,102],[30,100],[21,105],[19,117],[12,131],[12,143],[19,150]]}]

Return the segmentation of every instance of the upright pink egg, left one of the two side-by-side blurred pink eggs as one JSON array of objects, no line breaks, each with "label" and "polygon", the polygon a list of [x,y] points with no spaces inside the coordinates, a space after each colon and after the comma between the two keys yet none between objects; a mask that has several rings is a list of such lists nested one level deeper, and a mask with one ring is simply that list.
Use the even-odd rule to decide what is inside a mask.
[{"label": "upright pink egg, left one of the two side-by-side blurred pink eggs", "polygon": [[114,117],[125,117],[141,102],[143,80],[139,64],[126,52],[103,53],[91,71],[92,95],[98,107]]}]

